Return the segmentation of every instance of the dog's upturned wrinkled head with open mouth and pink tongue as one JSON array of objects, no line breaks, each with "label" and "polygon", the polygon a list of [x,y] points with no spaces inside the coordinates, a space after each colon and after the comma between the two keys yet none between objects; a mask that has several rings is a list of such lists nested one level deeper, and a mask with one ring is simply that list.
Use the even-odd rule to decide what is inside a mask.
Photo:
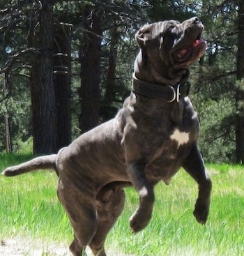
[{"label": "dog's upturned wrinkled head with open mouth and pink tongue", "polygon": [[204,29],[197,17],[180,23],[176,20],[148,24],[136,34],[143,54],[160,57],[167,66],[184,68],[197,61],[206,50],[201,38]]}]

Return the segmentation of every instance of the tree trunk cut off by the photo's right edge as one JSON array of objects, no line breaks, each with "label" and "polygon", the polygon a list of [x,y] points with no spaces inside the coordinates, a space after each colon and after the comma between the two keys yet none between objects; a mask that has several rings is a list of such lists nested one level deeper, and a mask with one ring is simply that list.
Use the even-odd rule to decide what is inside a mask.
[{"label": "tree trunk cut off by the photo's right edge", "polygon": [[236,62],[236,163],[244,164],[244,2],[238,1],[238,52]]}]

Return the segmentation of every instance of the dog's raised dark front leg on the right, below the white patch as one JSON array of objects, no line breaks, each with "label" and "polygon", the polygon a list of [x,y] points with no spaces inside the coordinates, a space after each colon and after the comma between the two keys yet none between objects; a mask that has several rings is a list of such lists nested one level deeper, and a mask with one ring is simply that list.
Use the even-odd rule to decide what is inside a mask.
[{"label": "dog's raised dark front leg on the right, below the white patch", "polygon": [[192,146],[188,158],[183,163],[183,168],[199,185],[199,195],[193,214],[199,223],[205,224],[208,218],[212,183],[204,167],[204,160],[201,158],[197,145]]}]

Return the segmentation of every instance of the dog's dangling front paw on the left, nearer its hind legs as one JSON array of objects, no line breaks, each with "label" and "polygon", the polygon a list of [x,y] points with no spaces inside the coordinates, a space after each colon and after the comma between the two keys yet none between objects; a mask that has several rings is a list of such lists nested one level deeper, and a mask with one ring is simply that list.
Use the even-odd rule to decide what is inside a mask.
[{"label": "dog's dangling front paw on the left, nearer its hind legs", "polygon": [[139,232],[148,225],[150,220],[151,212],[142,211],[138,208],[130,217],[130,228],[133,232]]}]

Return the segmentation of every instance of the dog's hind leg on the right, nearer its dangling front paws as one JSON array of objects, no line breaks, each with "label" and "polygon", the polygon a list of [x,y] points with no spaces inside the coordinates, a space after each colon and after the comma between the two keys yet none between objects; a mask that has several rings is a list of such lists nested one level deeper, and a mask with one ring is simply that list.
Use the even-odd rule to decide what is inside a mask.
[{"label": "dog's hind leg on the right, nearer its dangling front paws", "polygon": [[97,196],[98,229],[89,247],[96,256],[106,256],[104,243],[109,230],[123,211],[125,193],[121,188],[103,188]]}]

